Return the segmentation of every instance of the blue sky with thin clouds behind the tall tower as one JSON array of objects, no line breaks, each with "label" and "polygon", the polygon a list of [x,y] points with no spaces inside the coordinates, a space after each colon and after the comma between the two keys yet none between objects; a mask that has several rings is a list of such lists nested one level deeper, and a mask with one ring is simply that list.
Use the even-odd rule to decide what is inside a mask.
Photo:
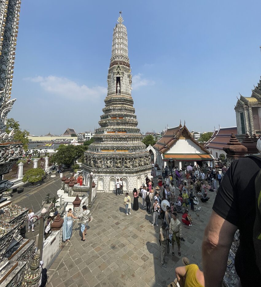
[{"label": "blue sky with thin clouds behind the tall tower", "polygon": [[36,135],[98,127],[122,10],[141,132],[180,119],[199,132],[235,126],[236,96],[251,96],[261,76],[260,9],[257,0],[24,0],[8,117]]}]

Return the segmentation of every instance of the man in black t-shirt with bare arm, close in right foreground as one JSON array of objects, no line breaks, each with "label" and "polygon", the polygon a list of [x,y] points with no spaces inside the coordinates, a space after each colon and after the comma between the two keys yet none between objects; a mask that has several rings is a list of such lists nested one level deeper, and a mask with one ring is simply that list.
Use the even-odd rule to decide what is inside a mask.
[{"label": "man in black t-shirt with bare arm, close in right foreground", "polygon": [[237,229],[240,245],[235,268],[243,287],[261,286],[261,275],[256,262],[253,244],[253,227],[256,217],[255,178],[261,160],[242,158],[232,162],[226,172],[202,242],[205,287],[221,286],[228,253]]}]

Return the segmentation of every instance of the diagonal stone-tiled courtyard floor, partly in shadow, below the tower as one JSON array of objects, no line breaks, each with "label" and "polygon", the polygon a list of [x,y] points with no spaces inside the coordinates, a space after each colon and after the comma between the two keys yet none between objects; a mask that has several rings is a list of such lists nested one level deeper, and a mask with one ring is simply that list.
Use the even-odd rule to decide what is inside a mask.
[{"label": "diagonal stone-tiled courtyard floor, partly in shadow, below the tower", "polygon": [[[165,287],[175,278],[175,268],[187,256],[191,263],[201,264],[201,241],[212,212],[216,193],[208,192],[210,200],[201,203],[201,211],[191,212],[193,226],[182,224],[181,257],[167,255],[167,268],[160,265],[161,247],[158,234],[161,225],[152,226],[152,214],[141,209],[126,216],[124,196],[98,193],[91,214],[85,242],[81,241],[80,223],[73,225],[72,238],[63,243],[48,270],[49,285],[62,286],[150,286]],[[133,199],[132,199],[133,200]],[[181,214],[179,214],[181,221]]]}]

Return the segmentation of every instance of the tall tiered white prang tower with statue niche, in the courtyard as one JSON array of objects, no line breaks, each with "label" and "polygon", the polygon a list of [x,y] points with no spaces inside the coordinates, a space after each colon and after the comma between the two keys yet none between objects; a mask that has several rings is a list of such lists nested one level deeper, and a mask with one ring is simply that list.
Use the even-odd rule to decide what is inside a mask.
[{"label": "tall tiered white prang tower with statue niche, in the courtyard", "polygon": [[85,180],[89,173],[96,174],[97,191],[115,191],[115,181],[120,177],[124,191],[132,191],[134,187],[139,188],[151,172],[150,154],[141,141],[133,108],[127,29],[122,22],[120,12],[113,30],[104,114],[82,165]]}]

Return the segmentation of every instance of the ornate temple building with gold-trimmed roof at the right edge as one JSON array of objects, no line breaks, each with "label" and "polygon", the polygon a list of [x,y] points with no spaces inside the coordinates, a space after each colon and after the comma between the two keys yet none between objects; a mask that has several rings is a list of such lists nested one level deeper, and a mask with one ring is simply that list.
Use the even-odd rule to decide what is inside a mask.
[{"label": "ornate temple building with gold-trimmed roof at the right edge", "polygon": [[261,80],[252,90],[251,97],[240,95],[236,106],[237,138],[242,141],[246,134],[261,134]]}]

